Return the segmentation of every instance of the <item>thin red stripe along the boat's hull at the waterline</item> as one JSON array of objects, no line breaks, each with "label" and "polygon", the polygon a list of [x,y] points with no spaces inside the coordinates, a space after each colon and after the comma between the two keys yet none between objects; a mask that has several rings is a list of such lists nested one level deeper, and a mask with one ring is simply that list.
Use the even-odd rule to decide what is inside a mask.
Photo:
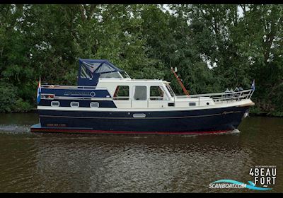
[{"label": "thin red stripe along the boat's hull at the waterline", "polygon": [[59,132],[59,133],[87,133],[87,134],[216,134],[227,130],[211,132],[123,132],[123,131],[101,131],[91,129],[30,129],[30,132]]}]

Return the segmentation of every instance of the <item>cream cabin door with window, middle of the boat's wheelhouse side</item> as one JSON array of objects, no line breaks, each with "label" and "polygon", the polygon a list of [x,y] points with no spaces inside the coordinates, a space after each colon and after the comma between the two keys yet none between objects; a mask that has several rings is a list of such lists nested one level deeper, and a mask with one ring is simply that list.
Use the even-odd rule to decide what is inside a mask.
[{"label": "cream cabin door with window, middle of the boat's wheelhouse side", "polygon": [[146,86],[133,86],[132,108],[147,108],[147,88]]}]

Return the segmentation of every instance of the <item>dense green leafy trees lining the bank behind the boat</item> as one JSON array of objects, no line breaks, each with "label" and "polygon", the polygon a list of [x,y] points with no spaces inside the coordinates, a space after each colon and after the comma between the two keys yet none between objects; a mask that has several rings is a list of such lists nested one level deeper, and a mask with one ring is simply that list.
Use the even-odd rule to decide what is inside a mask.
[{"label": "dense green leafy trees lining the bank behind the boat", "polygon": [[[170,10],[170,11],[168,11]],[[182,94],[250,88],[283,116],[282,5],[0,5],[0,112],[36,106],[37,81],[76,85],[78,59],[109,59]]]}]

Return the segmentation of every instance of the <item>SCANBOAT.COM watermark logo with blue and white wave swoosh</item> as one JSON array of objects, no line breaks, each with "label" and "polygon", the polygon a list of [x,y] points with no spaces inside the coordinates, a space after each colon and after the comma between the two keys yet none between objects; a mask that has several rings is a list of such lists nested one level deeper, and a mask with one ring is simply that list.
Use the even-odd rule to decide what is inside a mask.
[{"label": "SCANBOAT.COM watermark logo with blue and white wave swoosh", "polygon": [[248,188],[251,190],[272,190],[269,187],[256,187],[255,183],[248,181],[250,185],[236,180],[217,180],[209,184],[209,188]]}]

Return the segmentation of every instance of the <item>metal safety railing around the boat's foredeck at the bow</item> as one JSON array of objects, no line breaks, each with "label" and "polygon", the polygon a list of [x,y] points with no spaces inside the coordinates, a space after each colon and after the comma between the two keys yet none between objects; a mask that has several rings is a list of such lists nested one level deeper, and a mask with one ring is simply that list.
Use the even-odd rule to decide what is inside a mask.
[{"label": "metal safety railing around the boat's foredeck at the bow", "polygon": [[214,103],[229,103],[232,101],[240,101],[245,99],[250,99],[253,95],[254,90],[248,89],[244,91],[227,91],[223,93],[204,93],[204,94],[197,94],[197,95],[176,95],[176,99],[182,98],[200,98],[201,97],[208,97],[214,100]]}]

